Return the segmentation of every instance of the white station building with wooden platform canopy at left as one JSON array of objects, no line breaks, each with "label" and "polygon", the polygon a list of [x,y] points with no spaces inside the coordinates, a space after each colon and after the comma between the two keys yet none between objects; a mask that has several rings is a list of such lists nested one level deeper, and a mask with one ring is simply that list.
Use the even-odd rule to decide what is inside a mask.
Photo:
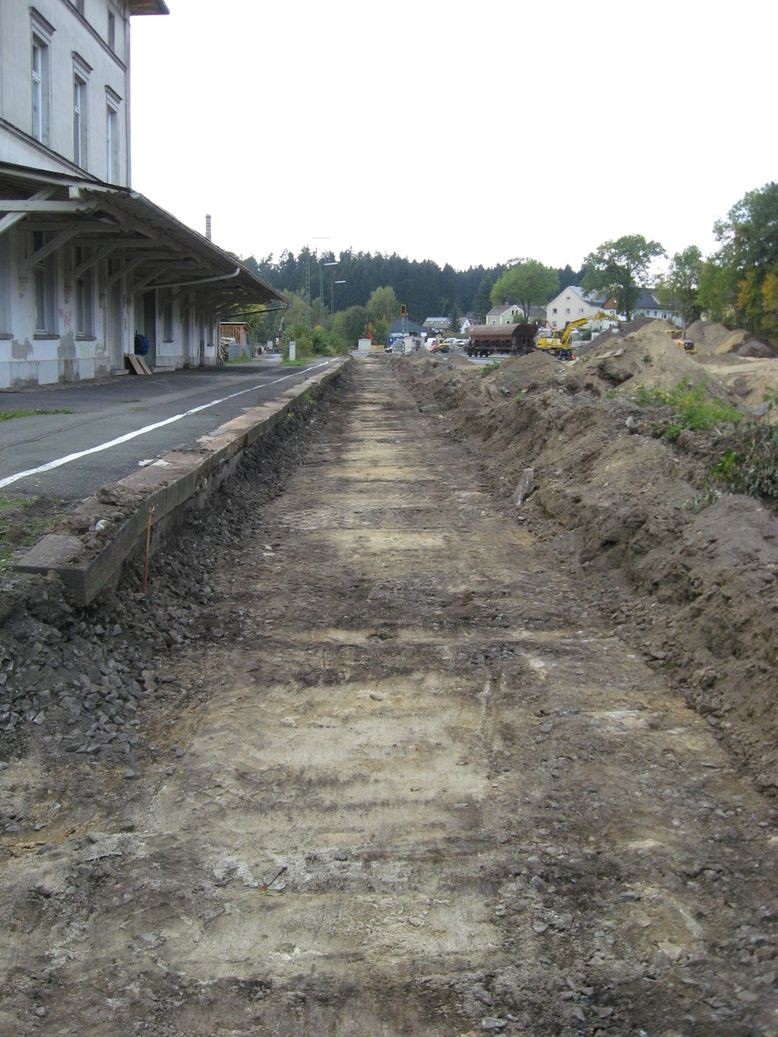
[{"label": "white station building with wooden platform canopy at left", "polygon": [[281,297],[130,187],[130,25],[164,0],[0,0],[0,389],[218,361]]}]

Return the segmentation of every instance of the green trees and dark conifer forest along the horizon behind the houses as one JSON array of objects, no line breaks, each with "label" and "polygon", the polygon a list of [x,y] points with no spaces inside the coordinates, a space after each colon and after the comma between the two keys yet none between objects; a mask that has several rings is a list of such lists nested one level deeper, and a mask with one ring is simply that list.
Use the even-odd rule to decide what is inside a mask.
[{"label": "green trees and dark conifer forest along the horizon behind the houses", "polygon": [[[689,325],[704,314],[729,327],[745,327],[778,344],[778,184],[748,192],[714,226],[719,248],[703,257],[690,245],[668,256],[661,243],[641,234],[604,242],[579,270],[551,268],[532,258],[455,271],[433,260],[396,254],[303,248],[247,267],[289,301],[283,314],[249,318],[259,341],[294,337],[302,353],[353,348],[365,335],[384,341],[391,321],[407,307],[411,319],[448,316],[452,330],[471,314],[482,321],[492,306],[518,303],[525,314],[546,305],[573,284],[613,300],[619,313],[632,316],[640,292],[650,288]],[[667,260],[657,278],[655,261]]]}]

